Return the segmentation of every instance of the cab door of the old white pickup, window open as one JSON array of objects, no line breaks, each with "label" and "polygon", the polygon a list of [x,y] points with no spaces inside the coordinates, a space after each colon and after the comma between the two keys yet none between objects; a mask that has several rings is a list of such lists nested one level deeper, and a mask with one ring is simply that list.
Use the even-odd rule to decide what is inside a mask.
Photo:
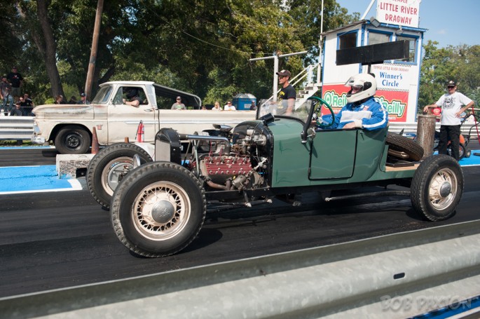
[{"label": "cab door of the old white pickup, window open", "polygon": [[[127,95],[132,89],[137,90],[137,97],[132,99],[139,100],[138,107],[124,103],[125,100],[130,100]],[[146,97],[144,88],[141,86],[118,87],[108,112],[110,143],[124,142],[125,137],[128,137],[130,142],[136,142],[140,121],[144,124],[144,142],[153,142],[156,134],[156,111]]]}]

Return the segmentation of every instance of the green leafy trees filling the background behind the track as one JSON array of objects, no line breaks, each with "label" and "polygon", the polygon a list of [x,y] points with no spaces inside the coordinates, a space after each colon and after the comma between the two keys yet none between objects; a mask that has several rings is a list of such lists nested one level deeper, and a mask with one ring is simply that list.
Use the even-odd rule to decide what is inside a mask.
[{"label": "green leafy trees filling the background behind the track", "polygon": [[[104,1],[93,92],[112,80],[147,80],[195,93],[205,103],[237,93],[271,95],[273,59],[293,74],[317,61],[322,0]],[[85,86],[97,0],[2,1],[0,40],[8,43],[0,72],[17,65],[25,91],[41,104],[54,95],[78,96]],[[324,0],[327,31],[358,20],[335,0]],[[425,44],[420,104],[432,103],[447,79],[478,95],[479,46]]]}]

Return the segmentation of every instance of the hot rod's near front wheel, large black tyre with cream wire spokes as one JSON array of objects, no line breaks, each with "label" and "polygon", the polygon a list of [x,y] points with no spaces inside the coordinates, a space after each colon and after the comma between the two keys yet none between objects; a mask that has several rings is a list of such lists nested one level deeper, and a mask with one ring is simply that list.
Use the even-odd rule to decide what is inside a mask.
[{"label": "hot rod's near front wheel, large black tyre with cream wire spokes", "polygon": [[151,162],[132,170],[111,201],[119,240],[135,254],[162,257],[184,249],[205,220],[205,190],[181,165]]}]

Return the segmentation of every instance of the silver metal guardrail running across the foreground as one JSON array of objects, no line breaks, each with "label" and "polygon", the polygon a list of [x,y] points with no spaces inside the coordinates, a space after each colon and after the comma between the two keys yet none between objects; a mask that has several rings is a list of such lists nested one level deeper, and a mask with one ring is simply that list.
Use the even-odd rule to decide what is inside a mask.
[{"label": "silver metal guardrail running across the foreground", "polygon": [[480,220],[437,226],[1,298],[0,316],[408,318],[478,296],[479,242]]}]

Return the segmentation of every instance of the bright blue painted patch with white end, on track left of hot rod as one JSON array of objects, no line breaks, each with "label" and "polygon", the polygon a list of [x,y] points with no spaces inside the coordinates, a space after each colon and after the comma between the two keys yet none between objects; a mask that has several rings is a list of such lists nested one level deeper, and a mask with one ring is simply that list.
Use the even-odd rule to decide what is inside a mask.
[{"label": "bright blue painted patch with white end, on track left of hot rod", "polygon": [[55,165],[0,167],[0,194],[78,189],[78,180],[58,178]]}]

